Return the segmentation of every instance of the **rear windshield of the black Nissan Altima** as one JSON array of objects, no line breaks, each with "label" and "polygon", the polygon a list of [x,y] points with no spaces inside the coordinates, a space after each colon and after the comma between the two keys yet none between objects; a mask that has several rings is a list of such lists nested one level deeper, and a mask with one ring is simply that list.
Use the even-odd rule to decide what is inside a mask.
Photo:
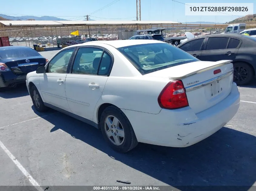
[{"label": "rear windshield of the black Nissan Altima", "polygon": [[0,51],[0,59],[24,58],[30,56],[39,56],[40,54],[30,48],[8,49]]}]

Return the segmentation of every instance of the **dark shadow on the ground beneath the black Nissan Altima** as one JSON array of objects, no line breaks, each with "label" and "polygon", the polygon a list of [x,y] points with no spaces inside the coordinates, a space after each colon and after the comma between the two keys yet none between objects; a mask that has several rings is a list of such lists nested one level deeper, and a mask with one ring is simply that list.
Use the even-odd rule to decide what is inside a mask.
[{"label": "dark shadow on the ground beneath the black Nissan Altima", "polygon": [[25,83],[18,84],[16,88],[4,88],[4,90],[0,92],[0,97],[5,99],[23,97],[27,95],[29,94],[28,94],[28,89]]}]

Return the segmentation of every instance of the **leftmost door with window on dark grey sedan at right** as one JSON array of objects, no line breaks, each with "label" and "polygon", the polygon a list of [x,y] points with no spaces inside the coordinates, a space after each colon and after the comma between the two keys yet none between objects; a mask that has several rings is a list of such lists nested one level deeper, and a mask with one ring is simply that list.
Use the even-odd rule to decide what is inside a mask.
[{"label": "leftmost door with window on dark grey sedan at right", "polygon": [[205,40],[206,38],[193,39],[182,44],[179,48],[201,60],[201,53]]}]

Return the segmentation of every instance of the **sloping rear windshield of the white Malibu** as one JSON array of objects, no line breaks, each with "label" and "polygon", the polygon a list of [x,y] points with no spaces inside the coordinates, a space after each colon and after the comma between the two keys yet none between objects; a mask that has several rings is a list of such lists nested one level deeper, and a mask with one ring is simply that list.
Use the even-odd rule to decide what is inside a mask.
[{"label": "sloping rear windshield of the white Malibu", "polygon": [[161,69],[199,61],[194,56],[168,43],[125,46],[118,50],[144,75]]}]

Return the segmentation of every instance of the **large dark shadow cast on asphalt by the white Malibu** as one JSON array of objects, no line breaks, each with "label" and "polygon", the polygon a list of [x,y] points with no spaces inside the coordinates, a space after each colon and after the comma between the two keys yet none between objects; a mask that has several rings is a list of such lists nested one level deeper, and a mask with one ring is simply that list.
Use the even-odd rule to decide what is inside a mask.
[{"label": "large dark shadow cast on asphalt by the white Malibu", "polygon": [[186,148],[139,143],[133,150],[120,154],[105,143],[100,130],[90,125],[59,112],[54,117],[42,118],[54,125],[51,132],[62,129],[109,157],[178,189],[208,186],[209,190],[210,186],[218,186],[214,189],[220,190],[220,186],[237,186],[238,190],[238,186],[243,186],[239,190],[248,190],[256,181],[256,138],[234,129],[223,127]]}]

